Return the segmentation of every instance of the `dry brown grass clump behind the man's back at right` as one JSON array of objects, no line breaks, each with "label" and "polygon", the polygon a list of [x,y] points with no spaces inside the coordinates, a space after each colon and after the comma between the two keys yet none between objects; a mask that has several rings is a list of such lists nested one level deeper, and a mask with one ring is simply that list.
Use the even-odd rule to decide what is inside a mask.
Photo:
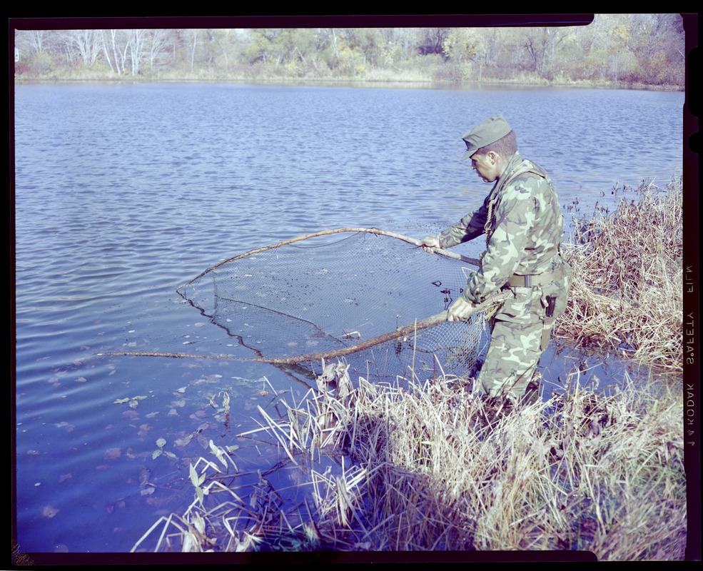
[{"label": "dry brown grass clump behind the man's back at right", "polygon": [[[682,181],[624,188],[615,213],[578,221],[565,253],[574,281],[555,333],[643,365],[683,368]],[[607,212],[607,211],[606,211]]]}]

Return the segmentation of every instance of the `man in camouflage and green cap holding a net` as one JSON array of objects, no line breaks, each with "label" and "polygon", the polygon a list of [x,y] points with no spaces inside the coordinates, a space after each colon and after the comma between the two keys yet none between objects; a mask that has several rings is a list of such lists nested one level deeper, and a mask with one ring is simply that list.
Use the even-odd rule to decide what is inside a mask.
[{"label": "man in camouflage and green cap holding a net", "polygon": [[462,160],[471,159],[478,176],[495,184],[477,211],[424,238],[421,246],[451,248],[485,233],[480,269],[450,305],[447,320],[467,319],[475,305],[499,290],[512,293],[491,320],[491,343],[474,393],[521,398],[554,320],[566,308],[572,272],[560,254],[564,220],[549,176],[520,156],[505,118],[482,121],[462,138]]}]

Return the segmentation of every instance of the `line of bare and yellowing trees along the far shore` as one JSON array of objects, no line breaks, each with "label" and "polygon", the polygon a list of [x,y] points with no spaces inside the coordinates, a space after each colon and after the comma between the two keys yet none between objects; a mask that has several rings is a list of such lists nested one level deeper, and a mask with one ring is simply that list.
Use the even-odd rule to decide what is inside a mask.
[{"label": "line of bare and yellowing trees along the far shore", "polygon": [[515,81],[682,89],[679,14],[587,26],[18,29],[16,79]]}]

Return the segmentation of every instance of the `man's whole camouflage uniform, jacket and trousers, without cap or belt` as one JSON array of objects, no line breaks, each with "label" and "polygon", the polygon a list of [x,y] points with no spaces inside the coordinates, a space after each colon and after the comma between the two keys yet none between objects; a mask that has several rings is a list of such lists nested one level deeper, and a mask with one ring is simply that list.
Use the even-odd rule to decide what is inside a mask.
[{"label": "man's whole camouflage uniform, jacket and trousers, without cap or belt", "polygon": [[[571,284],[571,268],[559,251],[564,219],[550,178],[540,166],[515,153],[483,205],[440,232],[439,238],[442,248],[450,248],[483,233],[487,246],[482,266],[470,275],[462,293],[470,303],[508,289],[514,274],[557,271],[559,276],[547,285],[509,288],[513,297],[492,318],[491,345],[477,390],[520,396],[546,348],[543,336],[548,340],[554,318],[566,309]],[[547,318],[547,297],[552,295],[557,302],[552,318]]]}]

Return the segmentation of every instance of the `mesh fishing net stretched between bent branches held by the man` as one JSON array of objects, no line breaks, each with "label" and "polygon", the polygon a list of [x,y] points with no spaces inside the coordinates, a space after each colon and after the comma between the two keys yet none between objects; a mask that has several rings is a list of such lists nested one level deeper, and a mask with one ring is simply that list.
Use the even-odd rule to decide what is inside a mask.
[{"label": "mesh fishing net stretched between bent branches held by the man", "polygon": [[478,261],[417,244],[373,228],[323,231],[218,263],[178,293],[252,359],[312,370],[341,358],[367,378],[474,375],[485,315],[443,312]]}]

